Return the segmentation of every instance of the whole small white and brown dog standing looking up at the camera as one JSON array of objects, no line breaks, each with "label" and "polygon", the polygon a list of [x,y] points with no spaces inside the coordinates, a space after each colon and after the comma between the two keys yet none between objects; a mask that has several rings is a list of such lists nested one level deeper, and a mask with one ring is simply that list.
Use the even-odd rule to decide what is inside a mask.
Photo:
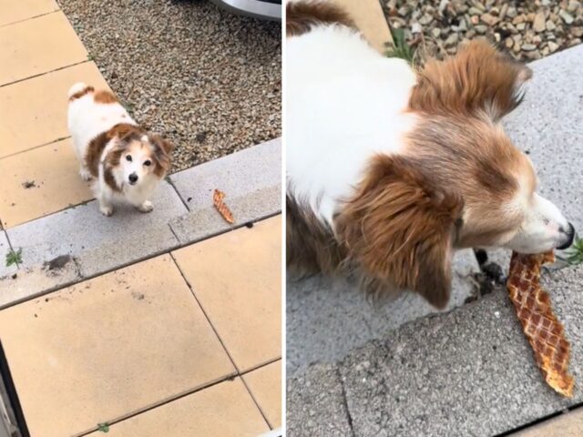
[{"label": "whole small white and brown dog standing looking up at the camera", "polygon": [[84,180],[95,178],[99,210],[113,214],[113,201],[125,200],[142,212],[170,167],[172,145],[148,134],[129,117],[112,93],[77,83],[69,89],[68,128]]}]

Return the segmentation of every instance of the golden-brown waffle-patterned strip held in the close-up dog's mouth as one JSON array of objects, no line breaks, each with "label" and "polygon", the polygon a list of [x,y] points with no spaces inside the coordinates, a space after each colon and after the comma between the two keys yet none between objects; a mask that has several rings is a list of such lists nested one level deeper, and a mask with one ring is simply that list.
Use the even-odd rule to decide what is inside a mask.
[{"label": "golden-brown waffle-patterned strip held in the close-up dog's mouth", "polygon": [[575,382],[568,374],[570,345],[563,325],[553,313],[547,291],[540,288],[541,266],[554,261],[552,251],[537,255],[514,252],[506,287],[545,381],[570,398]]}]

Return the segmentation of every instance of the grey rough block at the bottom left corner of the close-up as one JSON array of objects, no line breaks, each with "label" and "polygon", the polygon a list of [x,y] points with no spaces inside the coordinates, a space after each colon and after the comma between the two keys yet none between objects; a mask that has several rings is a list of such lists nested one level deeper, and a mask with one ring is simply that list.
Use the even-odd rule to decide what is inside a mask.
[{"label": "grey rough block at the bottom left corner of the close-up", "polygon": [[286,417],[289,437],[354,435],[338,368],[317,364],[289,378]]}]

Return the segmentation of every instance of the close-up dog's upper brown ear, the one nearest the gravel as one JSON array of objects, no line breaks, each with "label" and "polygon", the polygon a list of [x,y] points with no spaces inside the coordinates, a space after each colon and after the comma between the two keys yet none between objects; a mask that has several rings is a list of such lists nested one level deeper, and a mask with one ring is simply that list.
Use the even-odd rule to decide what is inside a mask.
[{"label": "close-up dog's upper brown ear, the one nearest the gravel", "polygon": [[521,86],[531,70],[505,56],[485,41],[469,43],[456,56],[432,60],[418,72],[409,107],[428,114],[476,115],[497,121],[524,97]]}]

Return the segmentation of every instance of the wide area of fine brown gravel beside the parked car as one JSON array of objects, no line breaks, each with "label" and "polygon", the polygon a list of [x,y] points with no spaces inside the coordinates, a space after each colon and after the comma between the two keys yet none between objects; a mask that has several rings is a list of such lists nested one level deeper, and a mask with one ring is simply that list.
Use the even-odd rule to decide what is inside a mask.
[{"label": "wide area of fine brown gravel beside the parked car", "polygon": [[208,0],[58,0],[136,120],[176,146],[172,171],[281,137],[281,24]]}]

